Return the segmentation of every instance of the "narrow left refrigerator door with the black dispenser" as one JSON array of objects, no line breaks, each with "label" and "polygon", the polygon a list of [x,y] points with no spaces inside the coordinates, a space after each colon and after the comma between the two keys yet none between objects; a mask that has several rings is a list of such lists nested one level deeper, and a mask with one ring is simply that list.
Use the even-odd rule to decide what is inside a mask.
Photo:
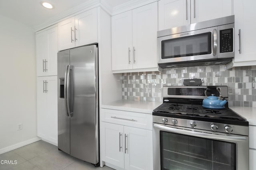
[{"label": "narrow left refrigerator door with the black dispenser", "polygon": [[70,154],[70,117],[66,109],[66,72],[69,50],[60,51],[58,59],[58,149]]}]

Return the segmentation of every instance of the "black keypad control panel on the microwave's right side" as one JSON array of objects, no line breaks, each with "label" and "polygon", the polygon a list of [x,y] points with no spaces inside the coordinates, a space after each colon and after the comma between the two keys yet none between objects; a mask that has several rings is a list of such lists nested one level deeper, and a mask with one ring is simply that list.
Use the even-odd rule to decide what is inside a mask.
[{"label": "black keypad control panel on the microwave's right side", "polygon": [[233,52],[233,28],[220,30],[220,53]]}]

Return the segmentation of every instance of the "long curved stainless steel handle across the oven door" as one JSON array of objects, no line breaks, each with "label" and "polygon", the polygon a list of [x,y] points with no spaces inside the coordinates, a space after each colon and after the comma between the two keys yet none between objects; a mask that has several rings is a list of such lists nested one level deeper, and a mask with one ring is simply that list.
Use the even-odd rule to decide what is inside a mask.
[{"label": "long curved stainless steel handle across the oven door", "polygon": [[195,131],[177,129],[177,128],[168,127],[164,125],[158,125],[158,124],[154,124],[154,127],[164,131],[168,131],[168,132],[179,133],[182,135],[190,135],[194,137],[208,138],[208,139],[219,139],[219,140],[227,140],[227,141],[246,141],[247,140],[246,137],[236,137],[236,136],[226,136],[226,135],[216,135],[211,133],[195,132]]}]

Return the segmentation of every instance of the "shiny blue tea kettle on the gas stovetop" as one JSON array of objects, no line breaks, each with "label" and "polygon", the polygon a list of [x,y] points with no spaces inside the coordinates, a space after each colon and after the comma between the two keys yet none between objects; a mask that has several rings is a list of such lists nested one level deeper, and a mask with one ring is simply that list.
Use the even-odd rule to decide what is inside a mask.
[{"label": "shiny blue tea kettle on the gas stovetop", "polygon": [[224,109],[226,102],[228,102],[226,99],[220,100],[219,97],[212,94],[203,100],[202,106],[206,109]]}]

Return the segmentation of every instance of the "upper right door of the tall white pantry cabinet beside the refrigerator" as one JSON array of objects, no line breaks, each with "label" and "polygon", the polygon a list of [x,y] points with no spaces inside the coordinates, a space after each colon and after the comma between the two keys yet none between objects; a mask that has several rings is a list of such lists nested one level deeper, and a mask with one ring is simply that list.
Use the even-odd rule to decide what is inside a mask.
[{"label": "upper right door of the tall white pantry cabinet beside the refrigerator", "polygon": [[54,27],[47,31],[48,35],[48,59],[46,62],[46,69],[48,76],[57,75],[57,53],[58,53],[58,28]]}]

